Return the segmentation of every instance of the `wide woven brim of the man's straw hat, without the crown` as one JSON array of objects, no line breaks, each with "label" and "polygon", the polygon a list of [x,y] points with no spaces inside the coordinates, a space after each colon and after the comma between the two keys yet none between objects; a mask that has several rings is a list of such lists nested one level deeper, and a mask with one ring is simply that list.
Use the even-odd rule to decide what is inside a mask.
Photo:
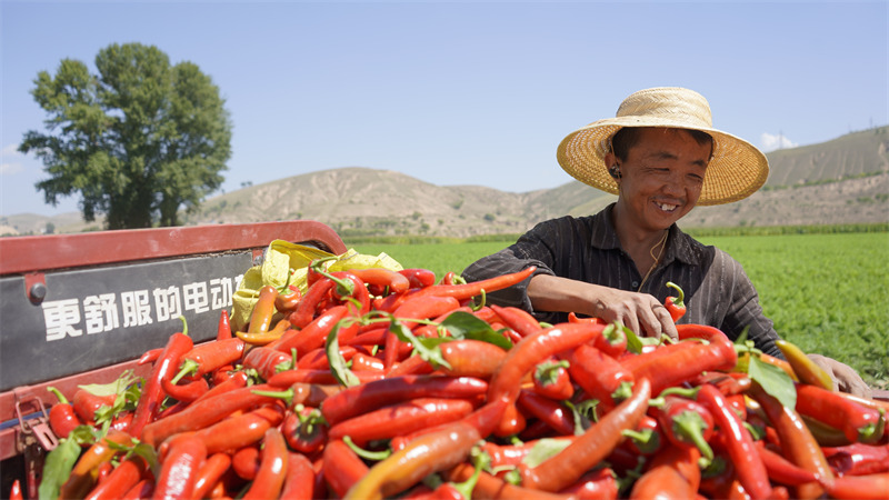
[{"label": "wide woven brim of the man's straw hat, without the crown", "polygon": [[766,156],[743,139],[717,129],[649,117],[607,118],[569,133],[556,152],[559,164],[580,182],[617,194],[618,184],[608,173],[605,156],[609,139],[623,127],[691,129],[713,138],[713,156],[707,166],[699,206],[742,200],[761,188],[769,177]]}]

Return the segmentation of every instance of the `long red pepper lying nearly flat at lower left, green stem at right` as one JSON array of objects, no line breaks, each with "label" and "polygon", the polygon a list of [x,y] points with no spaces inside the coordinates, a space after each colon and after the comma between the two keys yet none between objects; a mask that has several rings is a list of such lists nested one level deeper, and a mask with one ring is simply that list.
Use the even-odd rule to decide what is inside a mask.
[{"label": "long red pepper lying nearly flat at lower left, green stem at right", "polygon": [[146,426],[142,431],[142,441],[157,447],[170,436],[203,429],[219,422],[234,411],[273,402],[274,398],[253,392],[267,389],[270,389],[269,386],[246,387],[207,398],[199,403],[191,403],[179,413]]}]

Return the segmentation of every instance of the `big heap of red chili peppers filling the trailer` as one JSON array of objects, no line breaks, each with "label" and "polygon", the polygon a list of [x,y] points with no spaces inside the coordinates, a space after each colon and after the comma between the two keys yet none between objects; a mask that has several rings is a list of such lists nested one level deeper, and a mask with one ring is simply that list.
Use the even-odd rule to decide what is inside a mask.
[{"label": "big heap of red chili peppers filling the trailer", "polygon": [[[41,498],[885,498],[887,404],[805,356],[679,341],[486,306],[533,268],[465,283],[423,269],[309,270],[263,288],[246,331],[188,331],[144,380],[51,408]],[[681,317],[681,290],[671,310]],[[665,343],[666,342],[666,343]],[[753,361],[756,359],[757,361]],[[788,407],[750,371],[796,391]],[[829,382],[829,378],[828,378]],[[66,451],[68,456],[66,456]],[[12,497],[21,496],[13,488]]]}]

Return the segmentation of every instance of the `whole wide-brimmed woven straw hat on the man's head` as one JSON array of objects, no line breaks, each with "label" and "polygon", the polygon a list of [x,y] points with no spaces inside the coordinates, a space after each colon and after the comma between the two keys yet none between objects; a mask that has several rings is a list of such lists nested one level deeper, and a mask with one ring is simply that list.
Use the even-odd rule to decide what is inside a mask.
[{"label": "whole wide-brimmed woven straw hat on the man's head", "polygon": [[698,204],[721,204],[752,194],[766,183],[769,161],[755,146],[713,128],[710,104],[693,90],[661,87],[640,90],[618,108],[616,118],[595,121],[568,134],[559,144],[559,164],[575,179],[612,194],[618,184],[608,173],[605,154],[611,136],[623,127],[669,127],[701,130],[713,138]]}]

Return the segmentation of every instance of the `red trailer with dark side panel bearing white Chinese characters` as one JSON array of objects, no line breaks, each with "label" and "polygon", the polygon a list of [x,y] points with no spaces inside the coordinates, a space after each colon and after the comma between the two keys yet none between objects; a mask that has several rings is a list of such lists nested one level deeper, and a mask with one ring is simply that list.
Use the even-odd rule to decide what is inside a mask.
[{"label": "red trailer with dark side panel bearing white Chinese characters", "polygon": [[37,498],[54,387],[114,381],[163,346],[184,317],[196,343],[216,337],[243,273],[273,240],[346,251],[314,221],[217,224],[0,239],[0,491]]}]

